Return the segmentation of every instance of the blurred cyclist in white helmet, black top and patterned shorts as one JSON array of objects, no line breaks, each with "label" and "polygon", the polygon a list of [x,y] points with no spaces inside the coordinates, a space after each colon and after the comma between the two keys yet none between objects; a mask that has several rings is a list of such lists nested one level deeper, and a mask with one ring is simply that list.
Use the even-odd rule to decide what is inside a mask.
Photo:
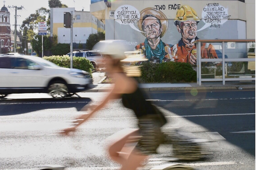
[{"label": "blurred cyclist in white helmet, black top and patterned shorts", "polygon": [[[96,111],[101,109],[109,100],[122,98],[125,107],[132,109],[138,118],[139,129],[123,130],[114,134],[118,139],[108,147],[110,157],[122,165],[121,170],[135,170],[148,155],[156,153],[161,143],[160,127],[166,123],[165,117],[157,108],[146,101],[142,91],[138,88],[138,82],[133,77],[128,77],[121,64],[125,59],[126,51],[121,41],[100,41],[94,48],[101,51],[106,57],[106,72],[115,80],[115,85],[101,104],[92,109],[89,114],[79,116],[75,127],[64,129],[64,134],[75,131],[83,122],[89,119]],[[87,106],[82,110],[88,109]],[[121,154],[127,140],[132,136],[140,136],[138,144],[130,152]]]}]

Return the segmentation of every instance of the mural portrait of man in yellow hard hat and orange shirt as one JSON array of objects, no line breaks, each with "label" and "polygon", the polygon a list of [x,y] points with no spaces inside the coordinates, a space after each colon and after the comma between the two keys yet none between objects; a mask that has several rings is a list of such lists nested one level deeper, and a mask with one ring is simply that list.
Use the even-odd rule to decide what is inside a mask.
[{"label": "mural portrait of man in yellow hard hat and orange shirt", "polygon": [[[196,51],[196,43],[194,41],[199,39],[197,37],[197,24],[199,21],[200,19],[193,8],[184,5],[178,9],[174,25],[178,32],[181,33],[181,39],[171,47],[172,61],[185,62],[192,65],[197,64],[197,57],[194,52]],[[218,58],[214,47],[208,43],[201,44],[201,57]]]}]

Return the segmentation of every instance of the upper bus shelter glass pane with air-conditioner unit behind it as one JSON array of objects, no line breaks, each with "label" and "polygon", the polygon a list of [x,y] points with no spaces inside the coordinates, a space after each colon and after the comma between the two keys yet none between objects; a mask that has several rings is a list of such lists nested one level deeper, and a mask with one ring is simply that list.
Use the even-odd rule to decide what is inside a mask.
[{"label": "upper bus shelter glass pane with air-conditioner unit behind it", "polygon": [[247,58],[246,43],[225,42],[225,55],[228,59]]}]

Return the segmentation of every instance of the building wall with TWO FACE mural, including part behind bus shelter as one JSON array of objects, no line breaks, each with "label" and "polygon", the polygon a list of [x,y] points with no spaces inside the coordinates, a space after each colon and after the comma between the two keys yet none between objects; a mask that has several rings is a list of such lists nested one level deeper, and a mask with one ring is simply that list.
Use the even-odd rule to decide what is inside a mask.
[{"label": "building wall with TWO FACE mural, including part behind bus shelter", "polygon": [[91,0],[90,12],[106,40],[150,62],[190,63],[205,81],[255,80],[255,0]]}]

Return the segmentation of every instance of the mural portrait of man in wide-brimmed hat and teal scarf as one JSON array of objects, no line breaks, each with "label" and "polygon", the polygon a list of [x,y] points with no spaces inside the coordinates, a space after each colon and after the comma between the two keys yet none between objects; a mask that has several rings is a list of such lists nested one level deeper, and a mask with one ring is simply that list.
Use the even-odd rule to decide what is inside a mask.
[{"label": "mural portrait of man in wide-brimmed hat and teal scarf", "polygon": [[162,63],[171,60],[170,46],[160,39],[166,32],[168,20],[159,10],[146,8],[140,12],[138,27],[146,37],[143,43],[135,46],[134,50],[140,51],[140,54],[155,63]]}]

